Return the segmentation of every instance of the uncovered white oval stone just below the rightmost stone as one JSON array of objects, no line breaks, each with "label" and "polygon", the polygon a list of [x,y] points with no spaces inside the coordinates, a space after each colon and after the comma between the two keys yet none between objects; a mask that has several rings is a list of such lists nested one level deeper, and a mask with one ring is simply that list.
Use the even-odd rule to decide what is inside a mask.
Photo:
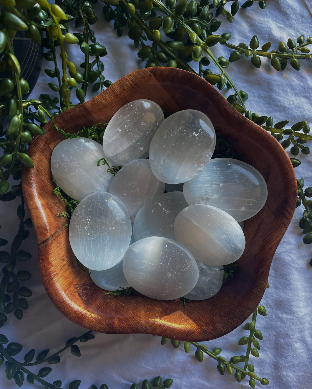
[{"label": "uncovered white oval stone just below the rightmost stone", "polygon": [[174,233],[196,261],[206,265],[228,265],[245,248],[244,233],[237,221],[210,205],[190,205],[182,210],[175,219]]}]

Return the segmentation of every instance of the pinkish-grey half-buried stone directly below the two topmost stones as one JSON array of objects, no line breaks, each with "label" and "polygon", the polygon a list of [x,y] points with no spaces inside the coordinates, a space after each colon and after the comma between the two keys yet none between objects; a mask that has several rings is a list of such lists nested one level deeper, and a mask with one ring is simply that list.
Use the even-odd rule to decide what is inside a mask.
[{"label": "pinkish-grey half-buried stone directly below the two topmost stones", "polygon": [[109,187],[109,193],[125,204],[132,223],[138,210],[164,190],[165,184],[154,176],[148,159],[128,162],[116,173]]}]

